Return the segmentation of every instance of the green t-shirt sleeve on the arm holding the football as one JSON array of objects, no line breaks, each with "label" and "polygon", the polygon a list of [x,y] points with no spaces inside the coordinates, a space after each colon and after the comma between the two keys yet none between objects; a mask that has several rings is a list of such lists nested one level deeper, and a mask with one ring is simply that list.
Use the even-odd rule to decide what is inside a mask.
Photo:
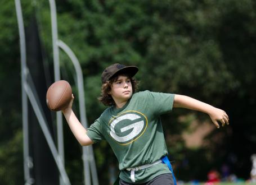
[{"label": "green t-shirt sleeve on the arm holding the football", "polygon": [[101,132],[101,123],[100,119],[97,119],[86,132],[87,136],[93,141],[93,143],[104,140],[104,136]]}]

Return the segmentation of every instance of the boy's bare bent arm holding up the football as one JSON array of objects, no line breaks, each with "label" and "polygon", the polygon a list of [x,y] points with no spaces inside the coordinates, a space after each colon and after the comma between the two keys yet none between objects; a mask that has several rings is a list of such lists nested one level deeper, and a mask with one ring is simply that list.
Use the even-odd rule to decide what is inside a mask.
[{"label": "boy's bare bent arm holding up the football", "polygon": [[75,138],[77,138],[78,142],[82,146],[87,146],[93,144],[93,141],[87,136],[86,129],[79,122],[77,116],[72,110],[74,96],[72,95],[72,99],[69,103],[69,106],[62,110],[66,121],[69,124],[70,130],[73,132]]}]

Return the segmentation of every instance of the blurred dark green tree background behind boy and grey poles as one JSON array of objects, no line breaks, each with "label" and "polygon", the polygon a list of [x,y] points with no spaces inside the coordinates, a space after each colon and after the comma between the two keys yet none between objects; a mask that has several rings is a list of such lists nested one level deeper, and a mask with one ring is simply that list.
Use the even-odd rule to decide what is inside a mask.
[{"label": "blurred dark green tree background behind boy and grey poles", "polygon": [[[45,100],[54,81],[50,5],[45,0],[23,0],[21,6],[28,67],[56,141],[55,124],[50,122],[55,114]],[[112,63],[138,66],[140,91],[191,96],[229,115],[230,125],[218,130],[208,115],[186,109],[161,117],[179,183],[207,182],[213,172],[223,181],[250,181],[251,155],[256,153],[256,1],[65,0],[56,1],[56,9],[59,39],[82,67],[89,124],[106,108],[97,100],[104,68]],[[0,184],[24,184],[15,1],[0,1],[0,28]],[[77,97],[74,67],[62,51],[60,70]],[[37,178],[44,179],[48,171],[58,177],[54,162],[43,165],[53,159],[29,106],[32,176],[41,172]],[[77,99],[74,111],[79,115]],[[64,148],[71,184],[83,184],[82,147],[66,122]],[[118,165],[110,146],[102,141],[93,150],[99,183],[111,184]]]}]

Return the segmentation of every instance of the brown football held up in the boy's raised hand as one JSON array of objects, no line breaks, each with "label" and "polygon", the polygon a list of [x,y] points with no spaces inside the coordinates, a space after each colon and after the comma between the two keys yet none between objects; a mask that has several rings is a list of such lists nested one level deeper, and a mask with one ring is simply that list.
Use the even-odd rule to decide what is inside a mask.
[{"label": "brown football held up in the boy's raised hand", "polygon": [[72,98],[69,82],[60,80],[54,82],[47,90],[46,103],[49,109],[59,111],[68,107]]}]

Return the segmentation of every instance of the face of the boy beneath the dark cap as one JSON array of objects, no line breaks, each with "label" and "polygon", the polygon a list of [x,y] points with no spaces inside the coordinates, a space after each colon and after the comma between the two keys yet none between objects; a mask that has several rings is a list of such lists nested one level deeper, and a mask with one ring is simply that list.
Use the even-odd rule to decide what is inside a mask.
[{"label": "face of the boy beneath the dark cap", "polygon": [[132,96],[131,80],[127,76],[118,76],[111,86],[110,94],[115,103],[128,101]]}]

